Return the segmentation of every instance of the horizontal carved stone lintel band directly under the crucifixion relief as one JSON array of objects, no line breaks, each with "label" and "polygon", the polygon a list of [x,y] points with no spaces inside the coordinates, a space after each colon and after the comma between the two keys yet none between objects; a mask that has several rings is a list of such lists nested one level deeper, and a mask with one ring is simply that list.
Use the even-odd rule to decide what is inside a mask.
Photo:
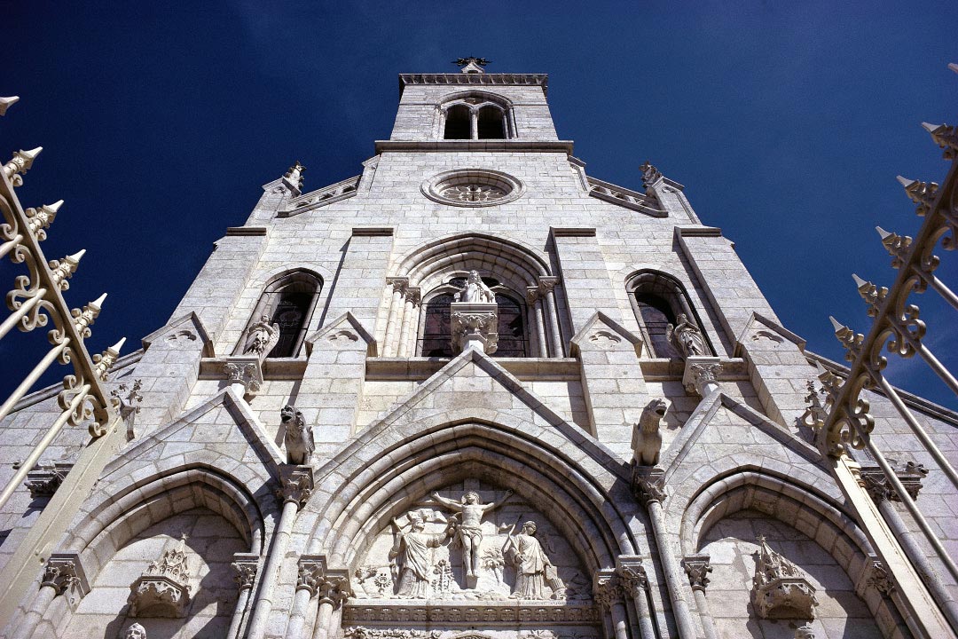
[{"label": "horizontal carved stone lintel band directly under the crucifixion relief", "polygon": [[530,605],[516,601],[455,602],[430,604],[412,601],[361,600],[343,606],[343,624],[352,626],[390,627],[400,623],[447,624],[470,627],[505,626],[518,623],[559,624],[563,626],[592,626],[600,621],[595,605],[570,605],[563,602],[542,601]]}]

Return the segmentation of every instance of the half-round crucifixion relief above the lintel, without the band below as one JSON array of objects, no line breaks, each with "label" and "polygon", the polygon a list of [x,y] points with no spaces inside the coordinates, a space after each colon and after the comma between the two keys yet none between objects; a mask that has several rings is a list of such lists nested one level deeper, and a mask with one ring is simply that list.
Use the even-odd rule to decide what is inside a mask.
[{"label": "half-round crucifixion relief above the lintel, without the band below", "polygon": [[356,599],[591,600],[578,556],[536,506],[476,481],[410,504],[368,543],[353,577]]}]

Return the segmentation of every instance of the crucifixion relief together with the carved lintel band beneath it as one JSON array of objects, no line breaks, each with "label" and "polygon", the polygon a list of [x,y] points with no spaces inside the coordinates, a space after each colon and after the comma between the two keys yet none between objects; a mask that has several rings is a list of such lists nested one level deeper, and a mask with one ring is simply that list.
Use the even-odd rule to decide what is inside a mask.
[{"label": "crucifixion relief together with the carved lintel band beneath it", "polygon": [[502,637],[518,637],[519,628],[588,627],[599,623],[590,584],[535,505],[467,480],[423,495],[374,536],[354,570],[343,624],[360,636],[390,620],[387,634],[368,636],[406,636],[388,632],[407,622],[437,637],[456,636],[461,625]]}]

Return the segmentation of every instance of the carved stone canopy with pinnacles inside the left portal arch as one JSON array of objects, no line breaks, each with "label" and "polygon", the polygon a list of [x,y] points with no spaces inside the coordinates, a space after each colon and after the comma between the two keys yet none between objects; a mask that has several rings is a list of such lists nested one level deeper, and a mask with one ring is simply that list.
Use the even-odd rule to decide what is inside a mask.
[{"label": "carved stone canopy with pinnacles inside the left portal arch", "polygon": [[130,586],[131,617],[185,617],[190,605],[190,569],[186,536]]}]

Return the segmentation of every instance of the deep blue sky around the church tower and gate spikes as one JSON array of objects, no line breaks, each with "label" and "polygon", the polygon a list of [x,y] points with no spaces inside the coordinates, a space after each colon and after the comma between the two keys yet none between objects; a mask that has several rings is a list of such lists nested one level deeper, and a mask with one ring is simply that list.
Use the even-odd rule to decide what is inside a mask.
[{"label": "deep blue sky around the church tower and gate spikes", "polygon": [[[953,0],[202,4],[0,2],[0,95],[21,97],[0,153],[45,148],[18,193],[66,200],[44,249],[88,249],[66,297],[109,292],[97,350],[161,326],[293,160],[307,190],[360,172],[389,135],[397,74],[474,55],[549,74],[559,137],[589,174],[641,188],[649,159],[686,185],[787,328],[838,358],[828,315],[869,326],[851,273],[895,276],[874,227],[921,221],[895,175],[947,172],[920,123],[958,121]],[[958,256],[943,262],[956,285]],[[958,369],[954,316],[917,302]],[[0,342],[4,386],[38,358],[34,332]],[[922,370],[892,378],[954,405]]]}]

